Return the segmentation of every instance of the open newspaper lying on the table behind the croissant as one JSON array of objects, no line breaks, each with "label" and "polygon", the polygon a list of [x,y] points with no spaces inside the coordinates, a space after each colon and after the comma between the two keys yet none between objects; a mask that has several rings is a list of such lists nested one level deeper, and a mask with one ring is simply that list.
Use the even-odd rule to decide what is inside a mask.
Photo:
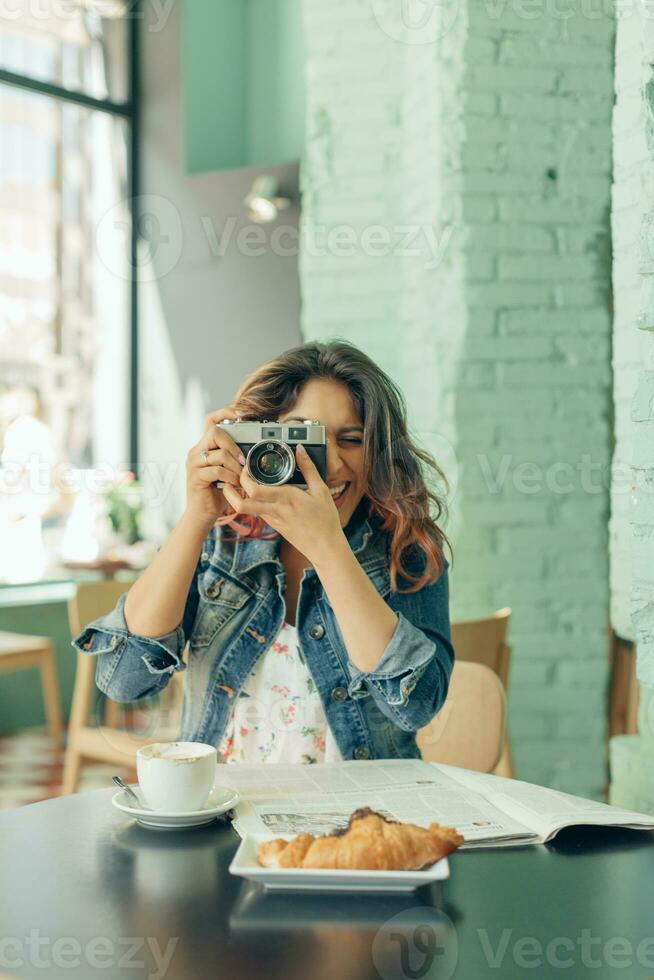
[{"label": "open newspaper lying on the table behind the croissant", "polygon": [[325,834],[369,806],[394,820],[456,827],[464,848],[545,843],[579,824],[654,828],[654,817],[516,779],[413,759],[318,765],[219,766],[241,796],[234,828],[246,834]]}]

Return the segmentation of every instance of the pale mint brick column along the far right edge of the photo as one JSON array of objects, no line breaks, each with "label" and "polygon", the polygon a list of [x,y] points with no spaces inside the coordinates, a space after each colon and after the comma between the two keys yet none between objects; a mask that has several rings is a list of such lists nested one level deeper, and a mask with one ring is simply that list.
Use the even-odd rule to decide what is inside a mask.
[{"label": "pale mint brick column along the far right edge of the photo", "polygon": [[[614,367],[618,439],[612,500],[614,611],[636,642],[637,736],[611,740],[611,800],[654,813],[654,27],[645,8],[619,20],[613,141]],[[616,461],[622,463],[620,469]],[[614,603],[614,607],[616,603]]]}]

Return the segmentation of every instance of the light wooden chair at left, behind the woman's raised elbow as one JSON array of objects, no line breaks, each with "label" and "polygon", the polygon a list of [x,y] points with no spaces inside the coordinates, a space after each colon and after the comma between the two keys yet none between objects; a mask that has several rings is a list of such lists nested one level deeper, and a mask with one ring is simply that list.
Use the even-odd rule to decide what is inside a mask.
[{"label": "light wooden chair at left, behind the woman's raised elbow", "polygon": [[[125,582],[85,582],[77,586],[76,594],[68,603],[68,619],[71,634],[76,636],[86,623],[109,612],[119,597],[129,588]],[[136,752],[149,742],[170,741],[178,736],[178,726],[168,723],[145,738],[136,732],[120,730],[123,706],[105,699],[105,724],[89,724],[91,705],[96,694],[96,657],[77,653],[75,688],[68,723],[68,740],[64,761],[62,795],[74,793],[79,782],[82,764],[86,761],[111,762],[117,766],[134,768]],[[176,673],[162,698],[165,713],[175,715],[181,705],[182,675]],[[163,712],[162,712],[163,713]]]}]

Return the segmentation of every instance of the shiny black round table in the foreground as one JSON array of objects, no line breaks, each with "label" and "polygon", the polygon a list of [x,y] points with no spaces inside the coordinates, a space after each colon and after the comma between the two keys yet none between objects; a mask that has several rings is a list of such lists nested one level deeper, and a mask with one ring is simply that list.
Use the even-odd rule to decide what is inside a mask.
[{"label": "shiny black round table in the foreground", "polygon": [[410,896],[266,895],[228,874],[231,827],[146,830],[113,792],[0,814],[0,974],[654,977],[654,834],[576,828],[458,853],[448,882]]}]

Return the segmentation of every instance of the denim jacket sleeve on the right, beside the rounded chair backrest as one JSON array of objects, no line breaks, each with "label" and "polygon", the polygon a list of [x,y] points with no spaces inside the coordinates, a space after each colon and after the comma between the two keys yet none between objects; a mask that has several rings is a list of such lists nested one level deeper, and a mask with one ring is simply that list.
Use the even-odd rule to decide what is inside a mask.
[{"label": "denim jacket sleeve on the right, beside the rounded chair backrest", "polygon": [[450,635],[448,562],[432,585],[418,592],[391,593],[395,632],[376,667],[363,672],[349,664],[352,697],[370,694],[381,711],[405,731],[429,724],[443,705],[454,665]]}]

